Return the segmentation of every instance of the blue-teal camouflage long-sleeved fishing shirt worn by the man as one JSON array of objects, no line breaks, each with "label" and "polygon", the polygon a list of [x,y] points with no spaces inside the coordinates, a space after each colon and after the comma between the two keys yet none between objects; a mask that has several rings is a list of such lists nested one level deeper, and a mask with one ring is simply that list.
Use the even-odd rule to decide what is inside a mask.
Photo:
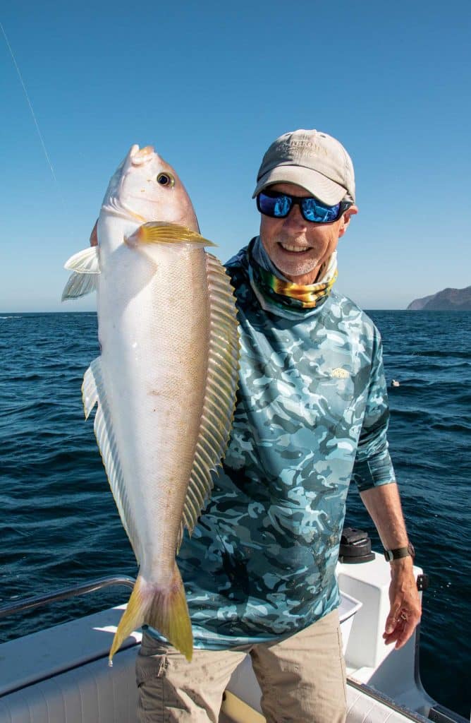
[{"label": "blue-teal camouflage long-sleeved fishing shirt worn by the man", "polygon": [[394,480],[373,322],[333,291],[284,313],[262,299],[249,258],[226,265],[241,333],[230,443],[177,560],[197,648],[287,636],[337,607],[350,479],[360,490]]}]

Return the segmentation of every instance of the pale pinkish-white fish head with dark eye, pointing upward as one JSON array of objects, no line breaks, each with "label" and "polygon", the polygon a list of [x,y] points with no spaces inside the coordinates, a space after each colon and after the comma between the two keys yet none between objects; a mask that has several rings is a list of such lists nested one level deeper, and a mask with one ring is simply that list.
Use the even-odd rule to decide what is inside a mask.
[{"label": "pale pinkish-white fish head with dark eye, pointing upward", "polygon": [[111,178],[102,211],[137,223],[163,221],[199,231],[189,194],[151,145],[131,146]]}]

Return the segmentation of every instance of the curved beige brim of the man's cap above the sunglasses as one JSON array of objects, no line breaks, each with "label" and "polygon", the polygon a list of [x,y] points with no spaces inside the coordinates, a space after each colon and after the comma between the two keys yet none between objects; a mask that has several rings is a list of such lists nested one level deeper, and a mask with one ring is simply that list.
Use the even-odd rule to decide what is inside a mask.
[{"label": "curved beige brim of the man's cap above the sunglasses", "polygon": [[308,193],[328,206],[340,203],[347,194],[347,189],[335,183],[312,168],[303,166],[277,166],[268,171],[256,184],[252,198],[255,198],[267,186],[275,183],[293,183],[301,186]]}]

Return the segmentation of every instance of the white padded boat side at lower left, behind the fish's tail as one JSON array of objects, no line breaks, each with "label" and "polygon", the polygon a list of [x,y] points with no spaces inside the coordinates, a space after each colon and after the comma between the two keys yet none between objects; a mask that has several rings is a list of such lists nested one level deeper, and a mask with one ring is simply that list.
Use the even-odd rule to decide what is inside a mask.
[{"label": "white padded boat side at lower left, behind the fish's tail", "polygon": [[140,633],[108,666],[124,605],[1,646],[0,723],[135,723]]}]

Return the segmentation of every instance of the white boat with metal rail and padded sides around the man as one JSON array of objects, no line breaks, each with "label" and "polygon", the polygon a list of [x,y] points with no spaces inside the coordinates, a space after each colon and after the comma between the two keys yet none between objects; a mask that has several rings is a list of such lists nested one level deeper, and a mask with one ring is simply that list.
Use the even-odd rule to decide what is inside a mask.
[{"label": "white boat with metal rail and padded sides around the man", "polygon": [[[462,716],[425,692],[420,682],[420,626],[399,651],[384,644],[389,563],[380,553],[371,552],[371,545],[365,548],[366,534],[354,530],[345,537],[344,531],[342,539],[346,542],[340,547],[337,578],[347,665],[347,723],[465,723]],[[418,567],[414,571],[418,587],[423,589],[426,576]],[[132,588],[134,579],[100,578],[4,604],[0,617],[113,585]],[[1,643],[0,723],[134,723],[134,661],[140,630],[127,638],[113,667],[108,667],[108,651],[124,607],[104,609]],[[263,723],[260,696],[247,656],[225,690],[220,723]],[[439,691],[436,697],[439,699]]]}]

